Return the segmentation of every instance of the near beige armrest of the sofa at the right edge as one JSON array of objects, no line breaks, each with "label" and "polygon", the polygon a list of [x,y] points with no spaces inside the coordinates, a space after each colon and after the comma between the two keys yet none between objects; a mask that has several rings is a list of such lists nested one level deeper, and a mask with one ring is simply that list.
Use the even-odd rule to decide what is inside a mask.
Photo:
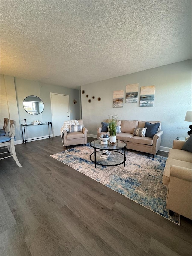
[{"label": "near beige armrest of the sofa at the right edge", "polygon": [[171,165],[166,208],[192,219],[192,170]]}]

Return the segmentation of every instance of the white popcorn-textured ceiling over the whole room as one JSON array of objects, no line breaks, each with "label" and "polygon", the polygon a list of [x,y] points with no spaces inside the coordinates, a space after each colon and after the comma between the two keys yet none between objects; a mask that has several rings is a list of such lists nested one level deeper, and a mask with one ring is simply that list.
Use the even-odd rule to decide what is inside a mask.
[{"label": "white popcorn-textured ceiling over the whole room", "polygon": [[192,58],[191,1],[2,1],[1,74],[80,85]]}]

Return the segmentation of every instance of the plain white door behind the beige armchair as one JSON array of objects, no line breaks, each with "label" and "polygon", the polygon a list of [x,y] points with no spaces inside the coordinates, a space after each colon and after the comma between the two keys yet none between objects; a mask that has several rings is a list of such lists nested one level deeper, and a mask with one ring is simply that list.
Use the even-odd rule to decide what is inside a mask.
[{"label": "plain white door behind the beige armchair", "polygon": [[69,95],[51,93],[53,136],[61,135],[60,129],[64,121],[70,120]]}]

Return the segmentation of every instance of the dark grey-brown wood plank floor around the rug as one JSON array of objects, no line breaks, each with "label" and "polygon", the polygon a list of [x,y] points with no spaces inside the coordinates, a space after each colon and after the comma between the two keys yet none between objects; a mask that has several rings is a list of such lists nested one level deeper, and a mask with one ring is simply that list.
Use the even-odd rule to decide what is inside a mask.
[{"label": "dark grey-brown wood plank floor around the rug", "polygon": [[50,157],[63,150],[58,136],[16,145],[20,168],[1,160],[1,256],[191,256],[189,219],[178,226]]}]

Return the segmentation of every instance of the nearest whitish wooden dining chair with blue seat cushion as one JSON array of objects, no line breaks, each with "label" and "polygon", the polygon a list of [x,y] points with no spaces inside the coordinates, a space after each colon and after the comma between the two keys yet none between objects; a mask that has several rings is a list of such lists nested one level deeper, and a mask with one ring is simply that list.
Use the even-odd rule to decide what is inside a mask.
[{"label": "nearest whitish wooden dining chair with blue seat cushion", "polygon": [[8,158],[8,157],[13,157],[13,159],[16,161],[16,164],[21,167],[21,164],[19,163],[19,160],[17,159],[16,152],[15,152],[15,121],[10,120],[10,129],[9,129],[9,134],[5,136],[0,137],[0,147],[4,147],[8,149],[7,152],[2,152],[0,154],[5,154],[5,153],[10,153],[9,156],[0,158]]}]

